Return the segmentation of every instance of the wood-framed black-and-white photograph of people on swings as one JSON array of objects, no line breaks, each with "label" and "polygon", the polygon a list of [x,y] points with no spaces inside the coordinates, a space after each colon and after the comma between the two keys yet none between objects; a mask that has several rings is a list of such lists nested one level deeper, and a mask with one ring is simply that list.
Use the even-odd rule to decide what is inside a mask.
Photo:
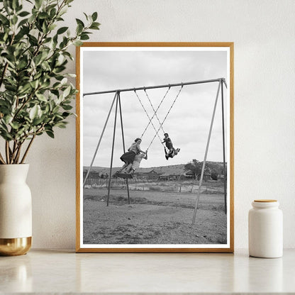
[{"label": "wood-framed black-and-white photograph of people on swings", "polygon": [[77,252],[233,252],[233,43],[84,43],[77,89]]}]

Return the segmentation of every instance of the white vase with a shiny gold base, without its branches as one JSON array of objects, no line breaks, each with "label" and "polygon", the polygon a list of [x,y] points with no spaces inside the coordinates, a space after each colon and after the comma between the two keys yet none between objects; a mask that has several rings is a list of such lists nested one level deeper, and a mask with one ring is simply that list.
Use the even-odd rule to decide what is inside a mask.
[{"label": "white vase with a shiny gold base, without its branches", "polygon": [[23,255],[32,243],[28,164],[0,165],[0,255]]}]

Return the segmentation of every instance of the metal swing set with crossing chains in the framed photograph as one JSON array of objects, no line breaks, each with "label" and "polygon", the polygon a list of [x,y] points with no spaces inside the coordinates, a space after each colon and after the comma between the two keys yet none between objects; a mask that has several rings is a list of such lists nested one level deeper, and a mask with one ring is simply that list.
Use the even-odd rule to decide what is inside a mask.
[{"label": "metal swing set with crossing chains in the framed photograph", "polygon": [[[225,204],[225,213],[227,213],[227,206],[226,206],[226,200],[227,200],[227,181],[226,181],[226,144],[225,144],[225,122],[224,122],[224,105],[223,105],[223,84],[226,86],[227,88],[227,84],[226,84],[226,79],[224,78],[219,78],[219,79],[211,79],[211,80],[203,80],[203,81],[196,81],[196,82],[186,82],[186,83],[178,83],[178,84],[166,84],[166,85],[158,85],[158,86],[150,86],[150,87],[138,87],[138,88],[129,88],[129,89],[117,89],[117,90],[109,90],[109,91],[98,91],[98,92],[89,92],[89,93],[84,93],[83,97],[85,96],[90,96],[90,95],[97,95],[97,94],[109,94],[109,93],[114,93],[115,95],[113,96],[113,101],[111,103],[111,108],[108,111],[108,116],[106,117],[106,122],[104,123],[104,128],[101,132],[101,135],[99,137],[99,142],[96,145],[96,150],[94,152],[94,156],[91,160],[91,164],[89,166],[89,169],[87,171],[86,177],[84,178],[84,182],[83,182],[83,187],[86,184],[87,178],[89,177],[89,174],[91,172],[91,168],[93,166],[96,154],[99,150],[99,146],[101,144],[101,140],[104,136],[104,131],[106,130],[106,126],[108,124],[108,119],[111,115],[111,111],[113,109],[113,105],[115,104],[116,101],[116,108],[115,108],[115,119],[114,119],[114,125],[113,125],[113,143],[112,143],[112,148],[111,148],[111,165],[110,165],[110,172],[109,172],[109,177],[108,177],[108,196],[107,196],[107,202],[106,202],[106,206],[108,206],[108,201],[109,201],[109,196],[110,196],[110,191],[111,191],[111,177],[112,177],[112,169],[113,169],[113,150],[114,150],[114,143],[115,143],[115,138],[116,138],[116,123],[117,123],[117,113],[118,113],[118,109],[119,109],[119,114],[120,114],[120,121],[121,121],[121,133],[122,133],[122,140],[123,140],[123,153],[126,152],[126,148],[125,148],[125,139],[124,139],[124,129],[123,129],[123,116],[122,116],[122,107],[121,107],[121,92],[127,92],[127,91],[133,91],[135,93],[135,96],[138,98],[138,101],[140,102],[140,105],[143,108],[143,111],[145,112],[145,114],[147,115],[148,118],[148,123],[147,126],[145,127],[145,129],[143,130],[142,135],[140,136],[140,138],[143,138],[143,135],[145,135],[145,132],[147,130],[147,128],[151,125],[152,128],[155,130],[155,135],[152,138],[150,144],[147,147],[147,150],[150,148],[150,146],[152,145],[152,143],[154,142],[155,138],[158,137],[160,139],[160,143],[164,146],[164,144],[162,143],[162,140],[160,138],[159,132],[160,130],[162,130],[163,133],[165,133],[165,130],[163,128],[163,124],[165,123],[167,117],[169,116],[170,111],[172,110],[172,107],[174,106],[175,102],[177,101],[177,98],[179,97],[179,94],[181,93],[182,89],[184,88],[184,86],[188,86],[188,85],[194,85],[194,84],[205,84],[205,83],[213,83],[213,82],[218,82],[218,89],[217,89],[217,93],[216,93],[216,99],[215,99],[215,104],[213,107],[213,113],[212,113],[212,118],[211,118],[211,124],[210,124],[210,128],[209,128],[209,133],[208,133],[208,140],[207,140],[207,144],[206,144],[206,151],[205,151],[205,155],[204,155],[204,161],[203,161],[203,165],[202,165],[202,169],[201,169],[201,177],[199,179],[199,188],[198,188],[198,193],[196,196],[196,203],[194,206],[194,216],[193,216],[193,221],[192,221],[192,225],[194,225],[195,221],[196,221],[196,211],[198,208],[198,204],[199,204],[199,198],[200,198],[200,194],[201,194],[201,184],[203,182],[203,177],[204,177],[204,170],[205,170],[205,165],[206,165],[206,160],[207,160],[207,154],[208,154],[208,147],[209,147],[209,143],[210,143],[210,139],[211,139],[211,132],[212,132],[212,128],[213,128],[213,121],[215,118],[215,113],[216,113],[216,106],[217,106],[217,102],[218,102],[218,96],[219,93],[221,91],[221,110],[222,110],[222,127],[223,127],[223,176],[224,176],[224,204]],[[171,106],[169,107],[165,118],[162,120],[162,122],[160,121],[159,117],[157,116],[157,111],[159,110],[160,106],[162,105],[162,102],[165,100],[169,90],[172,87],[180,87],[179,91],[177,93],[177,95],[175,96],[174,100],[172,101]],[[167,91],[165,93],[165,95],[162,97],[160,104],[157,106],[157,108],[155,108],[152,104],[152,101],[150,100],[150,97],[147,94],[147,90],[148,89],[160,89],[160,88],[167,88]],[[147,100],[150,103],[150,106],[152,107],[152,111],[153,114],[152,116],[150,116],[147,113],[147,110],[145,108],[145,106],[143,105],[142,100],[140,99],[140,96],[138,96],[138,92],[139,90],[143,90],[145,92],[145,96],[147,97]],[[159,123],[159,127],[156,128],[154,123],[152,123],[152,120],[156,118],[157,122]],[[164,146],[165,148],[165,146]],[[127,188],[127,194],[128,194],[128,204],[130,204],[130,194],[129,194],[129,185],[128,185],[128,179],[132,178],[132,176],[130,174],[126,174],[126,173],[121,173],[117,175],[118,177],[124,178],[126,179],[126,188]]]}]

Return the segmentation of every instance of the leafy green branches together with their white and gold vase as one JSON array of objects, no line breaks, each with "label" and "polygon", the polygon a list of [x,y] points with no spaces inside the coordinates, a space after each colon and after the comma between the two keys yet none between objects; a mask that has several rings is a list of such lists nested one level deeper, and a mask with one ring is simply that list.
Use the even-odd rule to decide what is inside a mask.
[{"label": "leafy green branches together with their white and gold vase", "polygon": [[[98,30],[84,13],[74,35],[61,26],[73,0],[0,0],[0,255],[31,245],[31,197],[26,156],[35,138],[65,128],[77,93],[65,73],[68,48]],[[28,9],[29,7],[29,9]]]}]

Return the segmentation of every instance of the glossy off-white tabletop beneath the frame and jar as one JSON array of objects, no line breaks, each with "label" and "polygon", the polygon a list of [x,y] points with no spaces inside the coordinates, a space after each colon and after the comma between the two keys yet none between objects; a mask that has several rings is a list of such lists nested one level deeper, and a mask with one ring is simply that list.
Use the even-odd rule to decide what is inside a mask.
[{"label": "glossy off-white tabletop beneath the frame and jar", "polygon": [[0,257],[0,294],[295,294],[295,249],[284,257],[31,250]]}]

